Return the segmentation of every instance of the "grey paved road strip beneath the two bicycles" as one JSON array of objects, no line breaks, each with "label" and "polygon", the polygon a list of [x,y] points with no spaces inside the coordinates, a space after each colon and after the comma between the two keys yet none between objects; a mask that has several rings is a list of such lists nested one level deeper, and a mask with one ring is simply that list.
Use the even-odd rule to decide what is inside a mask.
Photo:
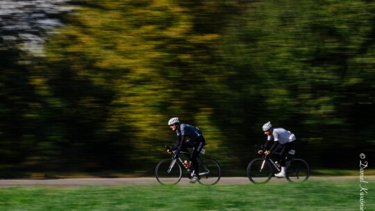
[{"label": "grey paved road strip beneath the two bicycles", "polygon": [[[375,176],[367,176],[368,181],[375,182]],[[359,176],[311,176],[309,181],[314,180],[341,180],[359,181]],[[286,179],[272,178],[270,183],[288,183]],[[183,178],[178,185],[189,184],[187,178]],[[121,185],[158,185],[156,178],[66,178],[66,179],[10,179],[0,180],[0,187],[78,187],[78,186],[121,186]],[[223,177],[217,185],[252,185],[247,177]]]}]

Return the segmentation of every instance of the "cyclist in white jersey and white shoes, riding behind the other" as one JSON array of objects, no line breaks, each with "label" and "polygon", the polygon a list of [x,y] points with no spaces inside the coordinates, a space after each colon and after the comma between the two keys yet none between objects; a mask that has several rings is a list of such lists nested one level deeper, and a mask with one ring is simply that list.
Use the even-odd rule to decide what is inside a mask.
[{"label": "cyclist in white jersey and white shoes, riding behind the other", "polygon": [[[285,178],[286,156],[294,147],[294,140],[296,140],[296,136],[284,128],[273,128],[270,121],[263,125],[263,131],[265,132],[265,135],[267,135],[264,153],[266,155],[271,153],[276,155],[278,160],[280,160],[281,171],[278,174],[275,174],[275,176],[278,178]],[[269,149],[272,141],[274,141],[274,144]],[[258,153],[261,154],[263,151],[258,151]]]}]

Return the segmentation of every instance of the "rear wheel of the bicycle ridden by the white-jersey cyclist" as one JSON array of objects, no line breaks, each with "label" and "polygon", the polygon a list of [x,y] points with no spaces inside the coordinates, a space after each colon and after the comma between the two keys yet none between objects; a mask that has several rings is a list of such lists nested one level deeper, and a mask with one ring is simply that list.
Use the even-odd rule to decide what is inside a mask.
[{"label": "rear wheel of the bicycle ridden by the white-jersey cyclist", "polygon": [[291,183],[303,183],[308,180],[310,176],[310,167],[306,161],[302,159],[290,160],[286,169],[286,175],[288,181]]}]

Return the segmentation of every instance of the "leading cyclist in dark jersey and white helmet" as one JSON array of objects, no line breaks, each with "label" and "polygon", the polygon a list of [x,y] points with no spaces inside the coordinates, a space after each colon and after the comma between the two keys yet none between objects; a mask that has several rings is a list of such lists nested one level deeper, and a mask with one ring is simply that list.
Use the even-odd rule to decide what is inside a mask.
[{"label": "leading cyclist in dark jersey and white helmet", "polygon": [[[172,130],[176,130],[177,133],[176,144],[172,146],[172,151],[168,150],[169,153],[179,153],[180,151],[188,151],[187,148],[193,148],[190,154],[190,160],[192,161],[194,171],[190,182],[194,183],[200,179],[197,158],[203,146],[206,145],[206,140],[202,135],[202,131],[190,124],[180,124],[178,117],[169,119],[168,125]],[[190,140],[187,140],[187,137],[189,137]]]}]

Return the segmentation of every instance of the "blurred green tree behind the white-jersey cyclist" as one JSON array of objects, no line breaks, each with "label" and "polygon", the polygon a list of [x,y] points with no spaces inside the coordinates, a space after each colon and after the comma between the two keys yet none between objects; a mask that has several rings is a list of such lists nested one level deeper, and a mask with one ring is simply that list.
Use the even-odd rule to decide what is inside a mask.
[{"label": "blurred green tree behind the white-jersey cyclist", "polygon": [[[314,164],[353,164],[358,156],[353,146],[362,149],[364,144],[353,140],[369,144],[374,137],[367,127],[361,138],[356,133],[364,120],[358,108],[367,113],[365,124],[374,126],[368,115],[374,99],[362,94],[374,88],[363,83],[374,78],[372,65],[364,62],[373,53],[373,10],[374,3],[366,1],[259,1],[244,7],[220,43],[225,49],[223,66],[233,73],[226,78],[233,84],[233,99],[248,106],[238,110],[240,103],[230,100],[224,111],[218,110],[228,114],[222,119],[240,119],[233,126],[235,134],[243,135],[237,139],[241,146],[246,140],[256,142],[253,135],[271,120],[297,134],[297,149],[301,147]],[[351,159],[342,162],[349,153]]]}]

